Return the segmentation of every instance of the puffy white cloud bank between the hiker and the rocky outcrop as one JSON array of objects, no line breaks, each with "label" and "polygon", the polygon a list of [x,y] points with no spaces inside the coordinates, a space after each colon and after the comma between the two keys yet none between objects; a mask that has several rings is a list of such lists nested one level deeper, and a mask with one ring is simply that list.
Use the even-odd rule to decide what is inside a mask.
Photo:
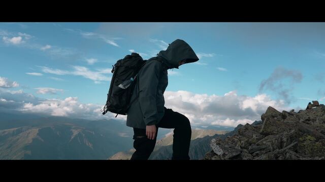
[{"label": "puffy white cloud bank between the hiker and the rocky outcrop", "polygon": [[269,106],[279,110],[289,110],[284,107],[284,101],[275,101],[266,94],[255,97],[238,96],[236,91],[224,96],[193,94],[187,91],[165,92],[166,107],[187,116],[191,124],[237,126],[261,120]]}]

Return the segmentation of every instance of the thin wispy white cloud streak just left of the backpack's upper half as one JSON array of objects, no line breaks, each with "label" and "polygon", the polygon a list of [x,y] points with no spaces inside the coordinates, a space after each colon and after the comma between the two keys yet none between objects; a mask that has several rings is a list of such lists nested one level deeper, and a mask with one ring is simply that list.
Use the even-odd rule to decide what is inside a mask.
[{"label": "thin wispy white cloud streak just left of the backpack's upper half", "polygon": [[76,75],[82,76],[84,78],[91,79],[93,81],[110,81],[111,77],[107,74],[111,74],[111,69],[101,69],[97,71],[91,71],[84,66],[72,66],[72,71],[60,70],[60,69],[52,69],[45,66],[39,66],[42,68],[44,73],[51,73],[57,75]]}]

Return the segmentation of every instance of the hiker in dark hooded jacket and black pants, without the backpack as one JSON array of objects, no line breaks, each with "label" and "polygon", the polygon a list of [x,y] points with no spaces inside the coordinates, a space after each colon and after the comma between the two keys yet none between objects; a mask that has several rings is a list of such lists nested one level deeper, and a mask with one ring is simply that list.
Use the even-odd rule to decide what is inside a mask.
[{"label": "hiker in dark hooded jacket and black pants, without the backpack", "polygon": [[138,73],[137,84],[127,111],[126,125],[133,127],[134,148],[131,160],[147,160],[157,139],[158,128],[174,128],[172,160],[189,160],[191,126],[189,119],[165,107],[164,92],[168,85],[167,70],[198,61],[184,40],[176,39],[166,51],[150,58]]}]

